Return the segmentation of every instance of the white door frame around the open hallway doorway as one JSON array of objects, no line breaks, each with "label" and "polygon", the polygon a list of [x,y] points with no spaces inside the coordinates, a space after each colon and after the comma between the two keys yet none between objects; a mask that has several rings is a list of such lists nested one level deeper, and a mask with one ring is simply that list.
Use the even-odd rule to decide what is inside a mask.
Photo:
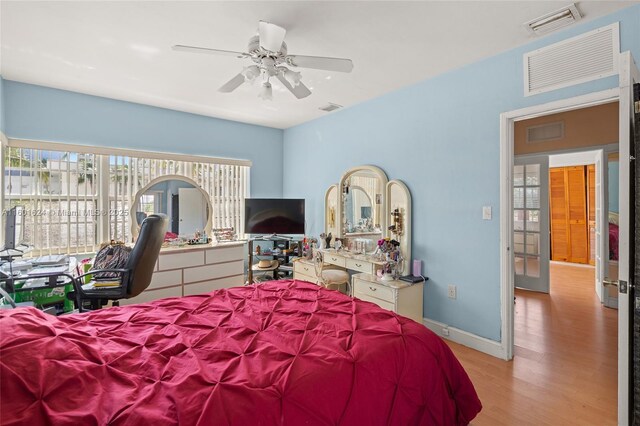
[{"label": "white door frame around the open hallway doorway", "polygon": [[514,123],[559,112],[616,102],[620,98],[618,87],[589,93],[569,99],[534,105],[500,114],[500,317],[501,358],[513,358],[513,213],[511,186],[513,182]]}]

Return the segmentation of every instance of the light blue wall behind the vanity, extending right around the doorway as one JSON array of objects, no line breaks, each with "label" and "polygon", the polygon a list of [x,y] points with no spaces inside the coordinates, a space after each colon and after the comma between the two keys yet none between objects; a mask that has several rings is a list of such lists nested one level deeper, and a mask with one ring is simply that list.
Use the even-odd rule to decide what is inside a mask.
[{"label": "light blue wall behind the vanity, extending right around the doorway", "polygon": [[[430,278],[424,316],[500,340],[499,115],[617,86],[610,77],[525,98],[522,81],[523,53],[615,21],[622,50],[640,58],[634,6],[285,130],[284,164],[295,167],[284,170],[284,196],[307,199],[307,229],[318,235],[324,191],[348,168],[373,164],[403,180],[413,197],[413,257]],[[482,220],[485,205],[491,221]]]}]

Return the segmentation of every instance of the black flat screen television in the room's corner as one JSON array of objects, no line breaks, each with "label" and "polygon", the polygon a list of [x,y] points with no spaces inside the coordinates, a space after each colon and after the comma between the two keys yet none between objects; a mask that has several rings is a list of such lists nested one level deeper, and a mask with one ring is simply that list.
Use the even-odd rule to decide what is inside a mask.
[{"label": "black flat screen television in the room's corner", "polygon": [[244,232],[247,234],[304,234],[304,199],[245,199]]}]

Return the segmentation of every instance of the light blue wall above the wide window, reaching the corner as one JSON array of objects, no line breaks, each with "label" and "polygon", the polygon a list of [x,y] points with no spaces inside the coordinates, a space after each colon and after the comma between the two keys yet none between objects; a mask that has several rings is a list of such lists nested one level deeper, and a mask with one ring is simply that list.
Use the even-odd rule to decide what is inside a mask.
[{"label": "light blue wall above the wide window, reaching the corner", "polygon": [[147,151],[247,159],[251,195],[282,196],[282,130],[4,81],[5,133]]}]

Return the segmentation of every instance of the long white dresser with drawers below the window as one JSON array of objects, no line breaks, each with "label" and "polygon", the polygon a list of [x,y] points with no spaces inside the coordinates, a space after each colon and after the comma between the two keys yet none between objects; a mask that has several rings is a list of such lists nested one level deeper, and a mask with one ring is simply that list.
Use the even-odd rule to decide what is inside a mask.
[{"label": "long white dresser with drawers below the window", "polygon": [[244,284],[245,242],[163,248],[151,284],[120,305],[189,296]]}]

